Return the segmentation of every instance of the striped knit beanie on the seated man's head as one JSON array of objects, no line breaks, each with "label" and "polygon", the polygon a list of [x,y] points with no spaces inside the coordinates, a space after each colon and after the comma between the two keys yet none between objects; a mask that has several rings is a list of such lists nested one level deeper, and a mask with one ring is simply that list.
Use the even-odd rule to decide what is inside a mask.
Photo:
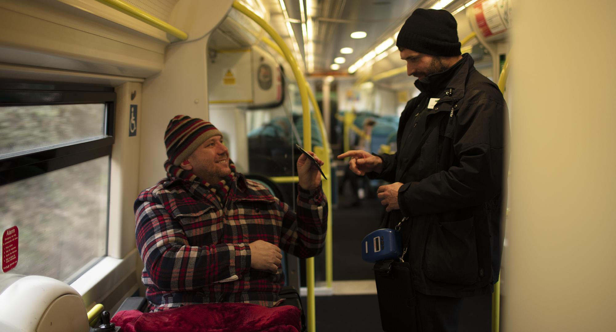
[{"label": "striped knit beanie on the seated man's head", "polygon": [[169,162],[179,165],[206,140],[212,136],[222,136],[213,124],[196,117],[175,116],[164,131],[164,145]]}]

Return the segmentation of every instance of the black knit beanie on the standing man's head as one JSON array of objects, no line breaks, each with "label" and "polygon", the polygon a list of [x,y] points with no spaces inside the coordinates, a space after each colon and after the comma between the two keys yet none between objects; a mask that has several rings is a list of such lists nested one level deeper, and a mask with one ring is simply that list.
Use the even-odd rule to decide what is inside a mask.
[{"label": "black knit beanie on the standing man's head", "polygon": [[447,10],[419,8],[407,18],[395,45],[437,57],[455,57],[461,54],[458,23]]}]

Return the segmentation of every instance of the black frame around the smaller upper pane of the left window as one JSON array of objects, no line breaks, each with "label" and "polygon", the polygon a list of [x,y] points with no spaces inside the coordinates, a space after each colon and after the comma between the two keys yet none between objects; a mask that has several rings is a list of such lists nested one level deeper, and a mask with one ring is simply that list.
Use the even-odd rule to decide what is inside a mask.
[{"label": "black frame around the smaller upper pane of the left window", "polygon": [[0,186],[111,156],[115,141],[116,93],[113,87],[87,84],[0,82],[0,106],[105,104],[105,137],[81,143],[34,149],[0,157]]}]

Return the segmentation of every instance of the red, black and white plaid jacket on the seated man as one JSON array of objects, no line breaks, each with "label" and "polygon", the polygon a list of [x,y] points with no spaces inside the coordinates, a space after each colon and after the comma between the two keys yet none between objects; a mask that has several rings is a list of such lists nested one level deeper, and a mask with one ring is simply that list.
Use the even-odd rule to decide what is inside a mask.
[{"label": "red, black and white plaid jacket on the seated man", "polygon": [[299,258],[325,243],[327,200],[322,188],[299,188],[297,213],[259,183],[237,173],[221,199],[200,181],[168,173],[135,202],[137,248],[150,310],[187,304],[246,302],[277,306],[277,273],[251,269],[249,243],[274,243]]}]

